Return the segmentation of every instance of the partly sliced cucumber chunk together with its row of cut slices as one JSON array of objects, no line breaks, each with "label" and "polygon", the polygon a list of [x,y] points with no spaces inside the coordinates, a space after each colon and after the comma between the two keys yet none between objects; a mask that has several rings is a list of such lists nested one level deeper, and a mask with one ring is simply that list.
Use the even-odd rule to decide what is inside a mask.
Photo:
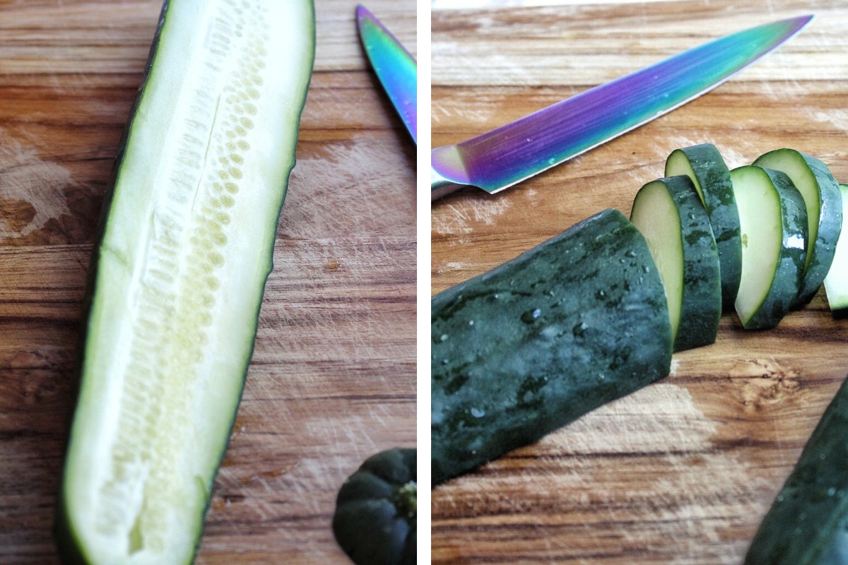
[{"label": "partly sliced cucumber chunk together with its row of cut slices", "polygon": [[848,306],[824,163],[778,149],[728,170],[702,144],[664,174],[629,220],[597,213],[433,296],[433,485],[665,377],[672,352],[716,341],[722,312],[773,328],[828,272],[831,307]]}]

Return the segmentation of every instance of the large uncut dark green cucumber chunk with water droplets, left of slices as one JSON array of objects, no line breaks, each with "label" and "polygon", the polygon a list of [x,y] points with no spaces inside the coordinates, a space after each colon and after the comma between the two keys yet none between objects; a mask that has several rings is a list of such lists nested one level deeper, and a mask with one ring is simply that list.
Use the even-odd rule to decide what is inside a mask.
[{"label": "large uncut dark green cucumber chunk with water droplets, left of slices", "polygon": [[432,298],[432,485],[665,377],[671,324],[616,210]]}]

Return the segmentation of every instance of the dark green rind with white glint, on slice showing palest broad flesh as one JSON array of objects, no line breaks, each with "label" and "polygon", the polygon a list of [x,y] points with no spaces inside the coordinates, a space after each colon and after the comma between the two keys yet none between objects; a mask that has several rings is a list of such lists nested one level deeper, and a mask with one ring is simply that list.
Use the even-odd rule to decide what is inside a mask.
[{"label": "dark green rind with white glint, on slice showing palest broad flesh", "polygon": [[804,197],[786,174],[765,167],[760,169],[765,171],[768,178],[772,180],[780,197],[783,241],[772,287],[763,300],[762,306],[744,324],[746,330],[769,330],[784,319],[795,303],[798,289],[801,288],[806,260],[806,247],[801,248],[793,244],[793,241],[798,238],[801,238],[801,241],[807,240]]}]

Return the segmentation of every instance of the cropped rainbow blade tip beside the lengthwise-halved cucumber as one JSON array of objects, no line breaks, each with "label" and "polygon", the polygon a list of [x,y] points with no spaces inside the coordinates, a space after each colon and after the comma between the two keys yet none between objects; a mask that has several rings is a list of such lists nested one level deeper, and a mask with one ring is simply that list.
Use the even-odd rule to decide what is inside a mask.
[{"label": "cropped rainbow blade tip beside the lengthwise-halved cucumber", "polygon": [[371,67],[380,79],[394,108],[404,120],[414,141],[418,141],[418,93],[416,59],[374,17],[365,6],[356,7],[362,46],[371,61]]}]

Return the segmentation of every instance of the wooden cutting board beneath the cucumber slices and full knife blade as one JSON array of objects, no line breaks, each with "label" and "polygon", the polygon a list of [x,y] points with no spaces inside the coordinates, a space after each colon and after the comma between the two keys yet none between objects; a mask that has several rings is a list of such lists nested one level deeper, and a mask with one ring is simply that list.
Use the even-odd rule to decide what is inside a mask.
[{"label": "wooden cutting board beneath the cucumber slices and full knife blade", "polygon": [[[848,181],[848,3],[657,2],[432,14],[433,147],[461,141],[711,38],[817,14],[717,90],[495,196],[432,206],[432,291],[603,208],[629,214],[669,152],[731,167],[795,147]],[[645,336],[650,339],[650,336]],[[823,291],[778,329],[722,317],[672,374],[432,491],[432,562],[735,565],[848,374]]]}]

